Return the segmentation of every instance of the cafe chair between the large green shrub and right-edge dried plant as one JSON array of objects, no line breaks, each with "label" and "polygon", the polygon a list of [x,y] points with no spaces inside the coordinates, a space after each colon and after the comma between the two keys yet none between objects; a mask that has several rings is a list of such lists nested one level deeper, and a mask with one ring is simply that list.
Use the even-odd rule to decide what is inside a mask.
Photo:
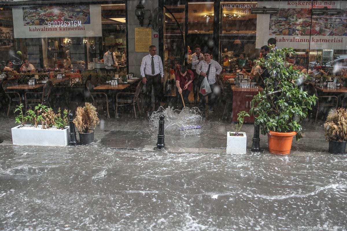
[{"label": "cafe chair between the large green shrub and right-edge dried plant", "polygon": [[[313,86],[312,83],[308,83],[307,85],[307,93],[310,96],[317,96],[318,100],[316,100],[316,106],[315,106],[315,110],[316,110],[316,116],[314,119],[314,124],[316,124],[317,122],[317,116],[318,116],[318,112],[320,108],[324,108],[324,107],[334,107],[335,109],[337,108],[337,104],[338,104],[338,98],[336,96],[319,96],[317,94],[317,90],[315,88],[315,86]],[[313,111],[313,108],[312,108]]]}]

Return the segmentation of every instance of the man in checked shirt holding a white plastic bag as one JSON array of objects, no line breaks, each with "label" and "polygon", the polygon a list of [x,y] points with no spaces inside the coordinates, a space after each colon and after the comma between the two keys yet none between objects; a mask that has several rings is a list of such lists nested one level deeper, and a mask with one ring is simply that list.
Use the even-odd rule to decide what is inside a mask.
[{"label": "man in checked shirt holding a white plastic bag", "polygon": [[[205,110],[206,106],[206,96],[209,96],[209,110],[211,113],[214,112],[214,103],[215,103],[215,98],[219,90],[219,86],[216,83],[216,77],[220,74],[222,71],[222,66],[215,60],[211,59],[211,52],[204,52],[204,60],[202,60],[197,68],[196,68],[196,73],[203,76],[203,78],[207,78],[210,88],[212,92],[210,94],[207,94],[203,96],[202,94],[199,93],[200,95],[200,105],[199,109],[203,112]],[[210,66],[210,69],[209,69]]]}]

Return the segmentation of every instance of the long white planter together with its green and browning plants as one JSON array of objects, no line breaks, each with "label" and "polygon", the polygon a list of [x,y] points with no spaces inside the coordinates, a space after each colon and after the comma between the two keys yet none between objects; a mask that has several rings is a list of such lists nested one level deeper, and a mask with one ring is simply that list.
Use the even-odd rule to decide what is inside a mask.
[{"label": "long white planter together with its green and browning plants", "polygon": [[15,109],[18,126],[11,128],[12,143],[17,145],[66,146],[70,142],[70,127],[67,126],[68,112],[39,104],[34,110],[23,112],[23,104]]}]

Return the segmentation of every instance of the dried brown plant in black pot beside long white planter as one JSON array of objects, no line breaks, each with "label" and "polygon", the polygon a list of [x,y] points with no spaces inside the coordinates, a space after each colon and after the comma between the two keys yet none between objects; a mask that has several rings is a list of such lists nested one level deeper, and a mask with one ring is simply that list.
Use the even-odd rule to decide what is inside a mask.
[{"label": "dried brown plant in black pot beside long white planter", "polygon": [[82,145],[94,141],[94,129],[100,123],[96,107],[91,103],[85,103],[84,107],[77,107],[74,124],[78,128],[79,142]]}]

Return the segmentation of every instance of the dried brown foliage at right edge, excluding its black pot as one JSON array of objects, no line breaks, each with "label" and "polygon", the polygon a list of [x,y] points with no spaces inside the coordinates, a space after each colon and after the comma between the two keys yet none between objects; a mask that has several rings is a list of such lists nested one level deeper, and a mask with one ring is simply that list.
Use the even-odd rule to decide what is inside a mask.
[{"label": "dried brown foliage at right edge, excluding its black pot", "polygon": [[347,109],[331,110],[324,123],[327,141],[347,141]]}]

